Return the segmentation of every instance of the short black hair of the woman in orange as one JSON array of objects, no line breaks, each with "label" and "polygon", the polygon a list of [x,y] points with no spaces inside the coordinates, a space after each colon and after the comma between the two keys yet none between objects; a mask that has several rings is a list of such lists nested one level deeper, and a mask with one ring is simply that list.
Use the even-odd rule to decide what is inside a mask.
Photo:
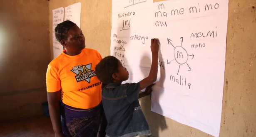
[{"label": "short black hair of the woman in orange", "polygon": [[74,25],[75,23],[70,20],[66,20],[60,24],[57,24],[54,31],[55,37],[58,40],[58,42],[60,42],[62,39],[66,39],[68,30],[70,30],[70,28]]}]

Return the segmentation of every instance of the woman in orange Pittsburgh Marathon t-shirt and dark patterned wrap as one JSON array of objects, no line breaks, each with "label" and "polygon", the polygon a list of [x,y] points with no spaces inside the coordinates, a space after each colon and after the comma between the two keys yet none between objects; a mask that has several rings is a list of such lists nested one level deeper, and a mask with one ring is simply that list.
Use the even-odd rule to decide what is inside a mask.
[{"label": "woman in orange Pittsburgh Marathon t-shirt and dark patterned wrap", "polygon": [[55,36],[65,47],[46,73],[55,137],[105,137],[102,82],[94,73],[102,57],[96,50],[85,48],[82,30],[71,21],[58,24]]}]

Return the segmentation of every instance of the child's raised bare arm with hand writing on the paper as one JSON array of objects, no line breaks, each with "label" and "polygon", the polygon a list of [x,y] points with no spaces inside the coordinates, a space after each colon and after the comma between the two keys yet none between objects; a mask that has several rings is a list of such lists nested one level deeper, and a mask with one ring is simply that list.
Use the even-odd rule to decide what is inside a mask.
[{"label": "child's raised bare arm with hand writing on the paper", "polygon": [[151,39],[151,52],[152,52],[152,64],[149,72],[149,76],[139,81],[140,89],[142,90],[157,80],[157,69],[158,69],[158,50],[159,40]]}]

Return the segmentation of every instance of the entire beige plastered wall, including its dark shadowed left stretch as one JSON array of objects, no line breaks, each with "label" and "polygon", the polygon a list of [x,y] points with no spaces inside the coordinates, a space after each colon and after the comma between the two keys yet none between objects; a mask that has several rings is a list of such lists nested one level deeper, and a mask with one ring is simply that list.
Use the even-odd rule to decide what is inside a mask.
[{"label": "entire beige plastered wall, including its dark shadowed left stretch", "polygon": [[[10,1],[0,1],[0,37],[5,40],[0,39],[0,119],[42,113],[45,72],[53,55],[47,30],[52,30],[53,9],[81,2],[86,46],[102,57],[110,54],[111,0]],[[255,0],[229,0],[220,137],[256,137],[255,7]],[[151,112],[150,97],[140,102],[153,137],[212,137]]]}]

